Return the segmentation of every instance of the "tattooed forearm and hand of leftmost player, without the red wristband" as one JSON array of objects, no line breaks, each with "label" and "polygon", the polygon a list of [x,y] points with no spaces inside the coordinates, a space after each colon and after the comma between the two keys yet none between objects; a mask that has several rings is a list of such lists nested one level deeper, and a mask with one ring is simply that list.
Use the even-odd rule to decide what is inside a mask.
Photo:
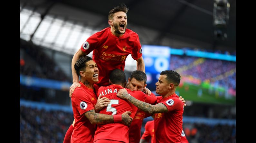
[{"label": "tattooed forearm and hand of leftmost player, without the red wristband", "polygon": [[[114,117],[112,115],[99,114],[94,109],[85,112],[84,115],[89,119],[91,124],[114,123]],[[128,111],[122,114],[122,123],[128,126],[132,123],[132,117],[129,115],[131,115],[131,112]]]}]

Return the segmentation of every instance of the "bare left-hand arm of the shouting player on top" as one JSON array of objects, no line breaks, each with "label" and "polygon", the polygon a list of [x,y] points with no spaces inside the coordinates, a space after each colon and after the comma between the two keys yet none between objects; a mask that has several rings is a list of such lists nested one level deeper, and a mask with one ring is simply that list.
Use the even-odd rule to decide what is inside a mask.
[{"label": "bare left-hand arm of the shouting player on top", "polygon": [[79,84],[79,77],[76,74],[76,70],[75,70],[75,63],[76,61],[81,57],[81,56],[86,56],[87,54],[82,52],[81,49],[79,49],[73,56],[72,58],[72,62],[71,62],[71,70],[72,70],[72,77],[73,77],[73,84],[71,85],[71,87],[69,88],[69,97],[72,97],[72,93],[74,92],[75,88],[77,86],[81,87],[81,85]]}]

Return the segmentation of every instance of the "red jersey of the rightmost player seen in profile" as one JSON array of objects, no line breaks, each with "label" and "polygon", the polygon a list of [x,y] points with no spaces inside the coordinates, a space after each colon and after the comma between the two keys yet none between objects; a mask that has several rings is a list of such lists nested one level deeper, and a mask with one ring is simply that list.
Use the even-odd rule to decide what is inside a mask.
[{"label": "red jersey of the rightmost player seen in profile", "polygon": [[184,103],[175,93],[166,98],[162,98],[158,103],[164,104],[169,112],[155,114],[154,143],[180,143]]}]

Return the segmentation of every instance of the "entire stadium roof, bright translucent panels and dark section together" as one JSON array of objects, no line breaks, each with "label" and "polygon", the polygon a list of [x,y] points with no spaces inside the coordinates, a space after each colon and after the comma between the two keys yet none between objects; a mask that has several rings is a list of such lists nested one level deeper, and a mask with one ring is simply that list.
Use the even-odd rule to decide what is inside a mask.
[{"label": "entire stadium roof, bright translucent panels and dark section together", "polygon": [[[214,38],[213,0],[21,0],[21,38],[30,39],[45,13],[46,16],[34,33],[32,41],[74,54],[85,41],[85,37],[109,26],[108,12],[119,3],[125,3],[129,7],[128,28],[133,27],[131,29],[139,34],[142,44],[168,45],[172,40],[179,40],[199,45],[198,48],[229,51],[236,49],[235,0],[229,0],[230,13],[225,41]],[[69,11],[60,5],[88,14]],[[62,18],[59,18],[60,15]],[[78,15],[84,15],[84,18],[78,18]],[[32,18],[28,20],[29,17]],[[76,18],[79,20],[70,21]],[[34,23],[31,24],[31,21]],[[49,25],[54,26],[49,28]],[[50,36],[47,33],[55,35]],[[165,43],[166,39],[169,42]],[[175,44],[171,46],[175,47]],[[179,46],[177,45],[178,48]]]}]

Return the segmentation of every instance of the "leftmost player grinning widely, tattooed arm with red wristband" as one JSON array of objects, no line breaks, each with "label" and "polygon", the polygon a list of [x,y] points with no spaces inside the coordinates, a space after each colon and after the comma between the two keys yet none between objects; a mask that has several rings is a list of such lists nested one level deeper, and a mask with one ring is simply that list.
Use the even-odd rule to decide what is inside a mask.
[{"label": "leftmost player grinning widely, tattooed arm with red wristband", "polygon": [[92,143],[96,124],[114,123],[122,121],[130,125],[132,118],[130,113],[124,112],[122,115],[98,114],[94,111],[97,102],[93,91],[94,83],[98,82],[97,64],[88,56],[83,56],[74,65],[76,73],[81,77],[81,87],[75,89],[72,101],[75,123],[71,136],[71,143],[87,142]]}]

